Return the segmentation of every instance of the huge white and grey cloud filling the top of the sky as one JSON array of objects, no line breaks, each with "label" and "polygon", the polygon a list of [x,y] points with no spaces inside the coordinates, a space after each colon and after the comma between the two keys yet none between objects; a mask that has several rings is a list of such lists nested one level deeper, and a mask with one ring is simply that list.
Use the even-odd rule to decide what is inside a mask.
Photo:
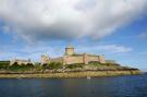
[{"label": "huge white and grey cloud filling the top of the sky", "polygon": [[0,20],[16,38],[99,39],[142,16],[146,0],[0,0]]}]

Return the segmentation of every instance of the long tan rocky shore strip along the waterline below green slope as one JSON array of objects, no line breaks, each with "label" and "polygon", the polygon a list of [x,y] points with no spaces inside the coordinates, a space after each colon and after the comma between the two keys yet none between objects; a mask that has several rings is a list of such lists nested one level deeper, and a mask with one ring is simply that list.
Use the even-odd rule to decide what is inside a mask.
[{"label": "long tan rocky shore strip along the waterline below green slope", "polygon": [[100,76],[121,76],[143,74],[139,70],[133,71],[86,71],[86,72],[60,72],[60,73],[29,73],[29,74],[0,74],[0,78],[19,78],[19,77],[100,77]]}]

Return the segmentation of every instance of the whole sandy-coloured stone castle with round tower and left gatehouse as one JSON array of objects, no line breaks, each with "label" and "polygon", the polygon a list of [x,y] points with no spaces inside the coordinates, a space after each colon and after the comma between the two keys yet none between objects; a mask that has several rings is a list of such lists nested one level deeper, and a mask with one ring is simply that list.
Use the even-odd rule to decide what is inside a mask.
[{"label": "whole sandy-coloured stone castle with round tower and left gatehouse", "polygon": [[63,57],[51,59],[48,56],[41,56],[40,63],[46,64],[49,62],[60,62],[62,64],[74,64],[74,63],[83,63],[88,64],[89,62],[100,62],[106,63],[105,56],[96,56],[88,53],[76,53],[74,47],[68,46],[65,48],[65,53]]}]

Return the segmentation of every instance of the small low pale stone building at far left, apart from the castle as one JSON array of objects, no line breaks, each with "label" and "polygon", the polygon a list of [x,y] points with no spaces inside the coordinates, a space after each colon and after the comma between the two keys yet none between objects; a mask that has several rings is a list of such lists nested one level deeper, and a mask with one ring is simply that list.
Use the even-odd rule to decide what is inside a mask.
[{"label": "small low pale stone building at far left, apart from the castle", "polygon": [[34,64],[34,62],[30,61],[30,59],[28,60],[24,60],[24,59],[13,59],[13,60],[10,60],[10,65],[13,65],[14,63],[17,63],[19,65],[22,65],[22,64],[28,64],[28,63],[32,63]]}]

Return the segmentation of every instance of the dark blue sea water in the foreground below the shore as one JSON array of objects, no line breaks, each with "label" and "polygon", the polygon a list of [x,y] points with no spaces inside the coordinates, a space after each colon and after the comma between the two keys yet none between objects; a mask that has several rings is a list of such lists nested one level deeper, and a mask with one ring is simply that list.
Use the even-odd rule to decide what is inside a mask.
[{"label": "dark blue sea water in the foreground below the shore", "polygon": [[85,78],[0,78],[0,97],[147,97],[147,74]]}]

